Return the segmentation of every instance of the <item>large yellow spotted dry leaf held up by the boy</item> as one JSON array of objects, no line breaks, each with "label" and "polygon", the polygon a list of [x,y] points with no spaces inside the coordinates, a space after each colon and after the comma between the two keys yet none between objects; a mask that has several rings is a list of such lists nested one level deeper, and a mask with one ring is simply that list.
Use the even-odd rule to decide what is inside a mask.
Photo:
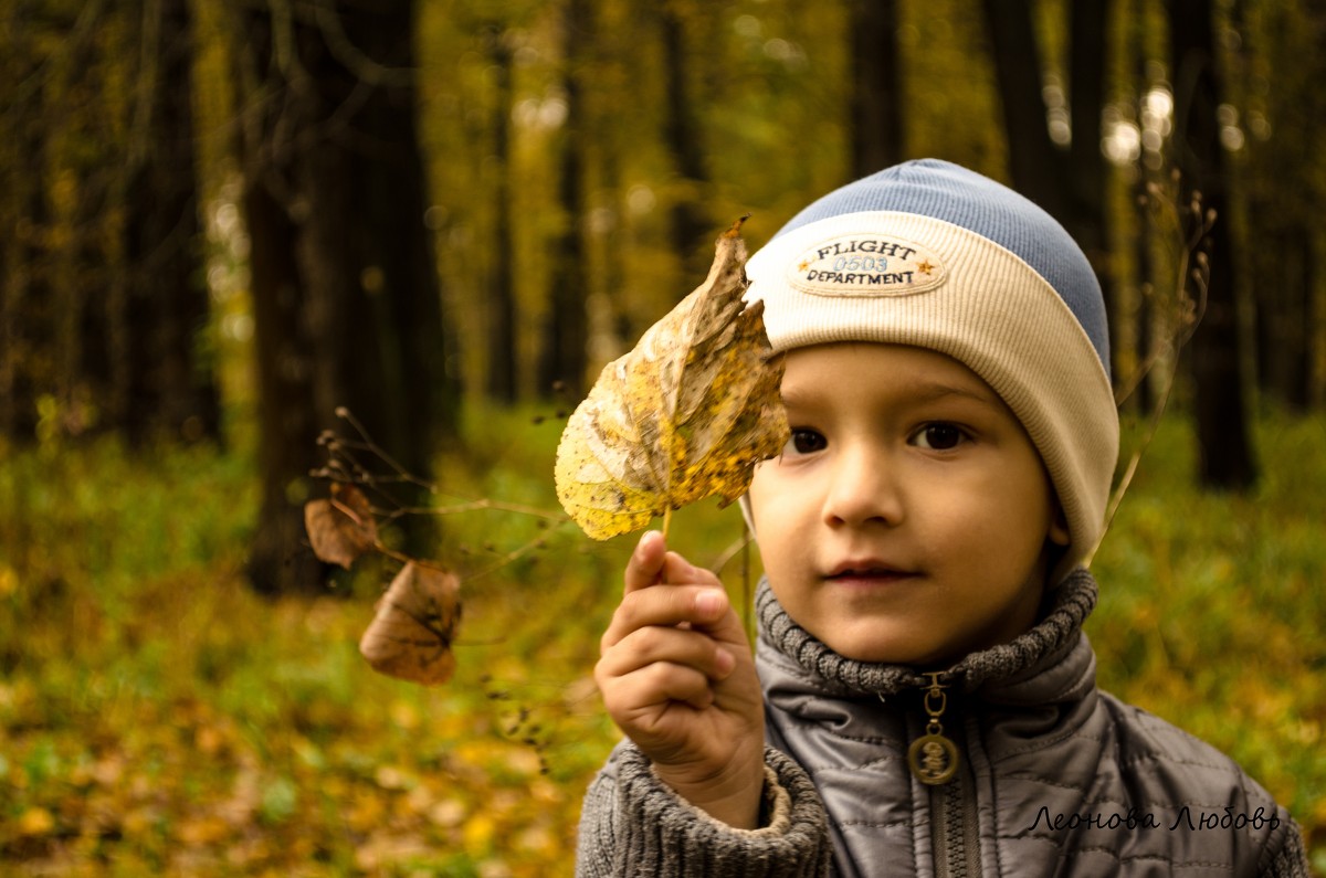
[{"label": "large yellow spotted dry leaf held up by the boy", "polygon": [[557,448],[557,496],[595,540],[719,495],[745,493],[754,464],[788,440],[764,304],[745,306],[740,220],[704,284],[609,363]]}]

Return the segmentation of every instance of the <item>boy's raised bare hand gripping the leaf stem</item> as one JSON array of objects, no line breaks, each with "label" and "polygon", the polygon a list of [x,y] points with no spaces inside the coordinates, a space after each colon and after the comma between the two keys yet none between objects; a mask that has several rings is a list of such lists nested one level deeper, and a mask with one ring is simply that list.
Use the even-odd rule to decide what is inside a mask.
[{"label": "boy's raised bare hand gripping the leaf stem", "polygon": [[646,533],[603,634],[594,679],[609,715],[683,798],[756,829],[764,698],[723,584]]}]

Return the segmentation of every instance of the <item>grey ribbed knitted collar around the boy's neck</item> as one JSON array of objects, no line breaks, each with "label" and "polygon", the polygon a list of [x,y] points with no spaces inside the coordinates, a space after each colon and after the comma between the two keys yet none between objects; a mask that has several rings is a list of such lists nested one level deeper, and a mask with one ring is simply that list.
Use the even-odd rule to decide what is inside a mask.
[{"label": "grey ribbed knitted collar around the boy's neck", "polygon": [[[1095,580],[1085,569],[1074,570],[1050,594],[1049,607],[1029,631],[1008,643],[968,654],[943,671],[940,682],[964,692],[980,691],[985,696],[994,696],[993,690],[997,688],[997,700],[1001,702],[1022,702],[1020,683],[1029,683],[1053,666],[1062,666],[1057,674],[1062,679],[1057,680],[1055,688],[1065,694],[1079,690],[1083,682],[1094,684],[1095,662],[1081,631],[1095,601]],[[838,655],[792,621],[773,596],[768,580],[760,581],[756,614],[760,646],[789,659],[796,667],[786,670],[809,678],[806,682],[823,694],[894,695],[931,683],[928,674],[923,675],[910,666],[857,662]],[[1063,662],[1070,653],[1075,653],[1078,660]],[[1044,700],[1044,682],[1036,688],[1037,694],[1028,700]]]}]

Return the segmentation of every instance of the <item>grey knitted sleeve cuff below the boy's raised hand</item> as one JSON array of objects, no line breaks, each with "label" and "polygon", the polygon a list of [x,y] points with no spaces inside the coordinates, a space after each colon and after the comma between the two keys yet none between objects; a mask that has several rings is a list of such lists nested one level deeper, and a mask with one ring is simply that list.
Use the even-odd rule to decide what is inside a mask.
[{"label": "grey knitted sleeve cuff below the boy's raised hand", "polygon": [[833,850],[819,794],[794,761],[765,748],[761,829],[733,829],[680,798],[623,741],[585,796],[578,878],[827,875]]}]

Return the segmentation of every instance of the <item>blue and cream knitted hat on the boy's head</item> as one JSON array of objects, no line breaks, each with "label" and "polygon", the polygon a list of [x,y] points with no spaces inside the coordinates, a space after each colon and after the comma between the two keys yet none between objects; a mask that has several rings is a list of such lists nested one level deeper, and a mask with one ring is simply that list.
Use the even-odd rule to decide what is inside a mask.
[{"label": "blue and cream knitted hat on the boy's head", "polygon": [[907,162],[806,207],[747,275],[774,350],[914,345],[980,375],[1022,422],[1063,508],[1071,542],[1052,582],[1087,558],[1119,420],[1101,286],[1049,214],[956,164]]}]

